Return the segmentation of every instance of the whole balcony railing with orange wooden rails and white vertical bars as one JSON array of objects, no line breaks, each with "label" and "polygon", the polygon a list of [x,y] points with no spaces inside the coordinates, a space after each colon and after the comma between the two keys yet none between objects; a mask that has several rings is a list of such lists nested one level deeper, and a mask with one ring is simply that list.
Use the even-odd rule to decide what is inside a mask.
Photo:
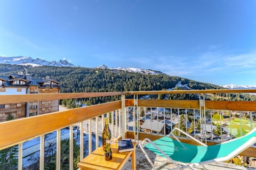
[{"label": "whole balcony railing with orange wooden rails and white vertical bars", "polygon": [[[44,169],[44,147],[45,147],[45,134],[56,132],[57,146],[56,146],[56,168],[60,169],[61,166],[61,129],[69,128],[69,169],[73,169],[73,126],[78,125],[80,129],[80,159],[85,155],[84,153],[84,130],[86,129],[89,135],[89,148],[87,153],[92,151],[92,148],[97,148],[100,145],[99,136],[102,132],[103,121],[102,117],[108,116],[110,123],[110,130],[114,132],[116,137],[131,137],[136,140],[141,140],[146,135],[151,138],[158,138],[166,134],[164,123],[163,132],[145,132],[142,131],[140,120],[144,117],[141,110],[147,110],[150,115],[150,121],[160,122],[161,118],[158,115],[163,115],[164,120],[172,121],[171,114],[180,117],[181,111],[187,114],[188,110],[199,113],[201,121],[206,121],[207,112],[214,111],[228,111],[228,112],[248,112],[250,128],[253,128],[255,122],[253,121],[252,114],[256,111],[256,101],[212,101],[200,98],[198,100],[142,100],[138,96],[141,95],[157,95],[157,94],[220,94],[220,93],[256,93],[256,90],[187,90],[187,91],[139,91],[139,92],[98,92],[98,93],[74,93],[74,94],[29,94],[29,95],[1,95],[1,104],[12,104],[33,101],[47,101],[47,100],[60,100],[60,99],[74,99],[74,98],[89,98],[89,97],[102,97],[102,96],[121,96],[121,100],[113,101],[110,103],[68,109],[66,111],[54,112],[44,115],[22,118],[20,120],[13,120],[0,123],[0,150],[19,145],[18,151],[18,169],[22,169],[22,143],[28,140],[39,137],[40,138],[40,158],[39,169]],[[126,95],[133,95],[133,99],[125,99]],[[164,109],[164,112],[162,111]],[[161,111],[160,111],[161,110]],[[170,111],[167,113],[166,111]],[[172,112],[173,111],[173,112]],[[154,112],[154,113],[153,113]],[[157,115],[157,118],[154,116]],[[171,115],[171,118],[166,115]],[[240,116],[241,118],[241,116]],[[195,118],[194,118],[195,120]],[[84,122],[88,124],[85,127]],[[187,118],[186,118],[187,122]],[[203,125],[206,122],[202,123]],[[93,125],[92,125],[93,124]],[[179,122],[178,122],[179,124]],[[211,122],[212,124],[212,122]],[[180,125],[180,124],[179,124]],[[132,130],[130,130],[130,128]],[[171,127],[172,128],[172,127]],[[188,127],[186,126],[186,130]],[[92,136],[95,134],[95,146],[92,146]],[[207,141],[203,138],[205,132],[201,131],[202,140],[210,143],[214,141]],[[205,137],[205,135],[204,135]],[[183,140],[187,140],[184,138]],[[189,142],[189,141],[188,141]],[[243,152],[246,156],[256,157],[255,149],[250,148],[248,151]]]}]

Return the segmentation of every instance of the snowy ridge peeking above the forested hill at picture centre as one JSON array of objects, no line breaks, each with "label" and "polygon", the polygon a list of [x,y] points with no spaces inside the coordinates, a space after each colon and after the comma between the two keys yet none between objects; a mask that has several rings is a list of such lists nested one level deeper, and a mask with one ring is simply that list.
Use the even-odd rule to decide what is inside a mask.
[{"label": "snowy ridge peeking above the forested hill at picture centre", "polygon": [[109,70],[117,70],[117,71],[127,71],[127,72],[134,72],[134,73],[141,73],[141,74],[149,74],[149,75],[158,75],[164,74],[161,71],[155,71],[150,69],[135,69],[135,68],[124,68],[124,67],[117,67],[117,68],[109,68],[106,65],[100,65],[96,67],[97,69],[109,69]]}]

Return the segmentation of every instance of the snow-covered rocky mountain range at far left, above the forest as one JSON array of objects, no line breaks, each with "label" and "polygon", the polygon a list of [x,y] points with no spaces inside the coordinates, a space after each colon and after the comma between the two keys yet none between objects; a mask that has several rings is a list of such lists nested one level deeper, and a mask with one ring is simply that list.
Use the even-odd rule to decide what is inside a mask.
[{"label": "snow-covered rocky mountain range at far left, above the forest", "polygon": [[69,63],[66,60],[60,61],[46,61],[40,58],[31,58],[31,57],[3,57],[0,56],[0,63],[2,64],[16,64],[16,65],[31,65],[31,66],[42,66],[42,65],[49,65],[49,66],[70,66],[75,67],[74,64]]}]

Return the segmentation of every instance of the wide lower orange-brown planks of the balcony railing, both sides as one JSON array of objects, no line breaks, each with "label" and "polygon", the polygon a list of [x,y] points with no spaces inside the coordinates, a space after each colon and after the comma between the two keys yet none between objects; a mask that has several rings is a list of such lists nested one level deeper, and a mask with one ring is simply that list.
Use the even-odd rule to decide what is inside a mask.
[{"label": "wide lower orange-brown planks of the balcony railing, both sides", "polygon": [[[79,96],[81,97],[81,96]],[[125,106],[133,106],[126,99]],[[138,100],[141,107],[199,108],[198,100]],[[121,101],[69,109],[0,123],[0,149],[121,108]],[[255,101],[205,101],[206,109],[256,111]],[[10,135],[12,134],[12,135]]]}]

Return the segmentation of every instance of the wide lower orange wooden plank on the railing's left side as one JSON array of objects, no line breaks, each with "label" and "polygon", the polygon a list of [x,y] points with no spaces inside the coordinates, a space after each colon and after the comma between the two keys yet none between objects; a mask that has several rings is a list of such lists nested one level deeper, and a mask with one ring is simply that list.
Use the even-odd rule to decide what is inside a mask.
[{"label": "wide lower orange wooden plank on the railing's left side", "polygon": [[39,137],[40,135],[120,108],[121,101],[114,101],[106,104],[1,122],[0,149],[16,145],[22,141]]}]

